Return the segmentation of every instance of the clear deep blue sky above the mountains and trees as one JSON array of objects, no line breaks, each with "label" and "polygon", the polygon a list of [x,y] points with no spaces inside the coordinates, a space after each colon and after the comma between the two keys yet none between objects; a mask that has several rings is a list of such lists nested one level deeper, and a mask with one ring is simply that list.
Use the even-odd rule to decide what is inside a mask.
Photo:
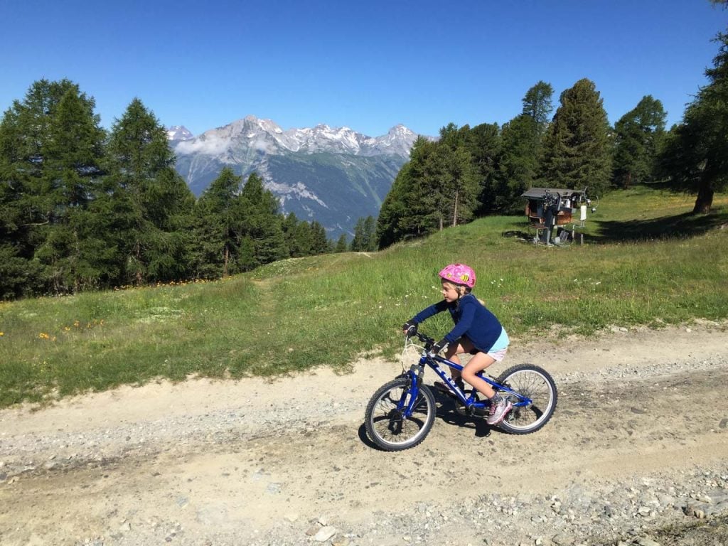
[{"label": "clear deep blue sky above the mountains and trees", "polygon": [[68,78],[111,127],[138,97],[195,135],[248,114],[383,135],[502,124],[539,80],[581,78],[614,123],[644,95],[668,127],[728,28],[708,0],[0,0],[0,110]]}]

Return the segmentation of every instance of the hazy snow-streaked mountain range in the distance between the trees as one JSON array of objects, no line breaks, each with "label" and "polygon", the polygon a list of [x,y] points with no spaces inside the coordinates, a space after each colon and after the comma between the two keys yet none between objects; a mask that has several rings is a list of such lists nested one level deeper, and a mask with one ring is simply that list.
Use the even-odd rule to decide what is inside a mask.
[{"label": "hazy snow-streaked mountain range in the distance between the trees", "polygon": [[223,167],[244,180],[256,172],[279,197],[283,213],[318,221],[332,238],[352,233],[359,218],[379,214],[418,137],[403,125],[379,137],[323,124],[282,130],[255,116],[196,138],[177,138],[182,133],[174,128],[176,168],[194,194],[202,194]]}]

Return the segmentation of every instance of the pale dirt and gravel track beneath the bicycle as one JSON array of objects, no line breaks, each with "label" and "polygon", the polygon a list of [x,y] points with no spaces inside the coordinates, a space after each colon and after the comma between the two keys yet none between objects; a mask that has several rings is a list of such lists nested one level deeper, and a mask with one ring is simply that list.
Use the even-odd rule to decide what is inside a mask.
[{"label": "pale dirt and gravel track beneath the bicycle", "polygon": [[694,496],[727,487],[725,328],[515,344],[492,373],[524,362],[559,387],[543,430],[490,430],[438,397],[428,438],[399,454],[363,431],[368,398],[400,371],[379,360],[0,411],[0,543],[596,544],[628,533],[636,512],[621,512],[652,510],[648,496],[661,507],[641,530],[685,523],[694,483]]}]

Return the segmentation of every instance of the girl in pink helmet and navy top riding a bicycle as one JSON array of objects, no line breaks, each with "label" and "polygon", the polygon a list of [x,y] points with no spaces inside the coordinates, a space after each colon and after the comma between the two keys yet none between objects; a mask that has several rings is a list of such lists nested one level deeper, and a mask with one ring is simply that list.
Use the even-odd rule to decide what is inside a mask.
[{"label": "girl in pink helmet and navy top riding a bicycle", "polygon": [[[488,424],[496,425],[505,419],[512,403],[504,400],[491,386],[475,374],[488,368],[494,362],[505,357],[510,340],[505,328],[496,316],[489,311],[478,298],[472,295],[475,286],[475,271],[465,264],[450,264],[439,273],[443,301],[439,301],[416,314],[403,325],[405,333],[417,331],[417,325],[435,314],[449,311],[455,327],[438,343],[432,346],[432,352],[445,349],[445,357],[460,364],[458,355],[472,355],[462,372],[452,370],[452,379],[462,389],[465,380],[483,396],[491,401]],[[449,391],[442,383],[435,387]]]}]

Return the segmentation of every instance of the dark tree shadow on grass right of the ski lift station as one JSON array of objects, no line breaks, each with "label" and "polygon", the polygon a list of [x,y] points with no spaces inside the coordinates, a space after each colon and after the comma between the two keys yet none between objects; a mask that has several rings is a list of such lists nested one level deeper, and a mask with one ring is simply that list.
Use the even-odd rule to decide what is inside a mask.
[{"label": "dark tree shadow on grass right of the ski lift station", "polygon": [[710,214],[684,213],[649,220],[598,220],[595,223],[598,228],[589,239],[596,242],[696,237],[728,224],[728,209],[721,207]]}]

